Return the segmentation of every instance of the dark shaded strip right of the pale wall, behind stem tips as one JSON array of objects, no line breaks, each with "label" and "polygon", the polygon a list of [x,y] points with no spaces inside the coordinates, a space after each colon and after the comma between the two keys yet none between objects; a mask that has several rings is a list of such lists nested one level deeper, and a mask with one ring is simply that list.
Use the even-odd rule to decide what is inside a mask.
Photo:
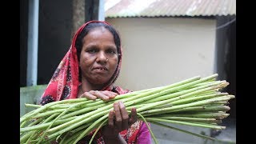
[{"label": "dark shaded strip right of the pale wall, behind stem tips", "polygon": [[[236,94],[236,20],[235,16],[217,17],[216,30],[216,72],[218,79],[229,82],[222,91],[235,95]],[[229,102],[230,118],[236,118],[236,98]]]}]

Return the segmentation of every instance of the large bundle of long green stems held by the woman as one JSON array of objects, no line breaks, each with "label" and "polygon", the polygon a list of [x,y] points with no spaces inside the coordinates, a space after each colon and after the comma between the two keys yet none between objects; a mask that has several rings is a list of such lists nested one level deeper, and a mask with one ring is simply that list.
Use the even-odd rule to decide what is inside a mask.
[{"label": "large bundle of long green stems held by the woman", "polygon": [[[94,130],[96,134],[99,128],[107,124],[113,103],[118,101],[124,102],[129,113],[132,107],[136,107],[138,119],[146,124],[151,122],[180,130],[168,126],[166,122],[169,122],[222,130],[226,127],[219,126],[219,123],[229,115],[226,113],[230,110],[227,105],[234,95],[221,92],[229,83],[218,81],[217,77],[218,74],[206,78],[197,76],[168,86],[120,94],[109,102],[76,98],[50,102],[44,106],[26,104],[36,109],[20,118],[20,142],[77,143]],[[150,134],[158,143],[151,130]],[[202,134],[194,135],[214,139]],[[93,138],[94,135],[90,142]]]}]

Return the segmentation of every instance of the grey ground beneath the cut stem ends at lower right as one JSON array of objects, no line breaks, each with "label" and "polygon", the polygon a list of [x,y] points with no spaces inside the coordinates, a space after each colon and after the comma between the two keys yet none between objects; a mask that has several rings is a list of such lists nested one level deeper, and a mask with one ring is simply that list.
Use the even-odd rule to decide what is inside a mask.
[{"label": "grey ground beneath the cut stem ends at lower right", "polygon": [[[170,130],[163,128],[161,126],[151,125],[151,130],[154,133],[154,136],[157,138],[159,144],[229,144],[236,143],[236,119],[226,118],[225,121],[222,121],[222,126],[226,126],[225,130],[210,130],[205,128],[198,128],[193,126],[179,126],[171,125],[183,130],[189,130],[197,134],[206,134],[211,135],[214,138],[217,138],[218,141],[212,142],[210,140],[204,140],[192,136],[190,134],[184,134],[177,130]],[[154,144],[154,140],[152,139]]]}]

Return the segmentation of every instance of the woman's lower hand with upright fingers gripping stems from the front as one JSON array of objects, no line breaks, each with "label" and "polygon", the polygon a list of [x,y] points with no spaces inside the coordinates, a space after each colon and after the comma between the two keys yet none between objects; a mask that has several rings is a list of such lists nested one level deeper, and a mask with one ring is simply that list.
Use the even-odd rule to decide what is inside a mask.
[{"label": "woman's lower hand with upright fingers gripping stems from the front", "polygon": [[119,132],[127,130],[136,121],[137,112],[135,108],[132,108],[131,117],[129,118],[126,106],[122,102],[115,102],[114,110],[109,113],[108,125],[102,128],[104,141],[106,143],[126,143]]}]

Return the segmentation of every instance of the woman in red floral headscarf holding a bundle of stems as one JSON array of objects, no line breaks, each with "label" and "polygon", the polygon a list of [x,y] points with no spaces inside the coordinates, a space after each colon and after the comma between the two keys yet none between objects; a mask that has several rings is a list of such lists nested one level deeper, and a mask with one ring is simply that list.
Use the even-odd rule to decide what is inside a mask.
[{"label": "woman in red floral headscarf holding a bundle of stems", "polygon": [[[86,22],[74,35],[70,50],[42,94],[41,104],[81,97],[108,101],[130,92],[114,86],[121,62],[121,40],[114,27],[107,22]],[[88,143],[92,134],[80,143]],[[129,117],[126,106],[115,102],[108,125],[97,133],[94,143],[150,143],[150,132],[144,122],[137,120],[135,108]]]}]

